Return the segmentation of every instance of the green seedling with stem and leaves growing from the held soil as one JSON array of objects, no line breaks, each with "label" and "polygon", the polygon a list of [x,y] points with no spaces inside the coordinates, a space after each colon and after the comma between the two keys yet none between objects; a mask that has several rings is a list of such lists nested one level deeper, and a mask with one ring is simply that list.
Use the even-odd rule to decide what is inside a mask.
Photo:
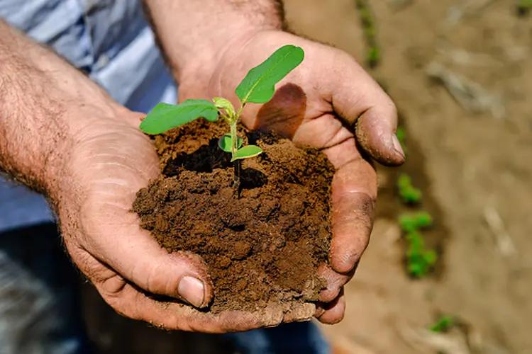
[{"label": "green seedling with stem and leaves growing from the held soil", "polygon": [[276,50],[265,62],[250,69],[235,89],[240,99],[240,107],[235,110],[226,98],[216,97],[212,101],[189,99],[178,105],[159,103],[140,123],[140,130],[146,134],[161,134],[174,127],[205,118],[215,122],[223,118],[229,125],[229,132],[218,140],[218,147],[231,153],[235,164],[235,189],[240,186],[240,165],[238,160],[247,159],[262,153],[255,145],[243,146],[243,138],[238,136],[237,126],[240,115],[248,103],[267,103],[275,93],[275,84],[292,72],[304,59],[304,51],[294,45],[285,45]]}]

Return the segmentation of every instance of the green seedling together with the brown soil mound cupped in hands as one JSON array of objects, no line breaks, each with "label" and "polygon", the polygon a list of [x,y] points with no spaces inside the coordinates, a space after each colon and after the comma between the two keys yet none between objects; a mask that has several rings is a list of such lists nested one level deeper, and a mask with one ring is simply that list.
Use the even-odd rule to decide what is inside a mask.
[{"label": "green seedling together with the brown soil mound cupped in hands", "polygon": [[333,166],[275,133],[253,134],[255,147],[237,132],[245,105],[270,101],[303,59],[284,46],[238,84],[238,106],[227,97],[161,103],[140,125],[155,135],[160,175],[138,190],[132,211],[162,249],[204,261],[213,314],[273,308],[303,321],[327,287],[319,265],[331,248]]}]

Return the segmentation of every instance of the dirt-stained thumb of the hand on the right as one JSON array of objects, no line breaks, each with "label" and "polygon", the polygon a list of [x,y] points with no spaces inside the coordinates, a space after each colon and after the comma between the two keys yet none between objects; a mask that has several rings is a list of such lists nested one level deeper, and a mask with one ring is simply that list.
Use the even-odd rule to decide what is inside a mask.
[{"label": "dirt-stained thumb of the hand on the right", "polygon": [[[373,159],[384,165],[397,166],[404,162],[404,152],[397,139],[397,109],[392,99],[367,74],[355,59],[338,52],[338,66],[331,77],[331,103],[336,114],[355,127],[358,142]],[[335,69],[333,69],[335,70]]]}]

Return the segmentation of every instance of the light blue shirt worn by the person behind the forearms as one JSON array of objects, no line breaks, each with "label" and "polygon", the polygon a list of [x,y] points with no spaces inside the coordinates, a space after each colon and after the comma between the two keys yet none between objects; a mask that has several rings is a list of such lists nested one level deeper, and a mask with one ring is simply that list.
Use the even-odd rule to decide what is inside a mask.
[{"label": "light blue shirt worn by the person behind the forearms", "polygon": [[[140,0],[0,0],[0,17],[87,72],[118,102],[148,112],[177,89]],[[52,220],[44,198],[0,177],[0,232]]]}]

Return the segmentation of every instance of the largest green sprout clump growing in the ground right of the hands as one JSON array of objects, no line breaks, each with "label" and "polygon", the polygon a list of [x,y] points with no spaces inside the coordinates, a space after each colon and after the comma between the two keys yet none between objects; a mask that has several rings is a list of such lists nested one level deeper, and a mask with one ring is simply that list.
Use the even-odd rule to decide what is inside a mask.
[{"label": "largest green sprout clump growing in the ground right of the hands", "polygon": [[438,260],[438,254],[432,249],[426,249],[425,240],[420,230],[431,227],[433,218],[428,212],[404,214],[399,217],[399,225],[405,233],[408,243],[406,251],[407,268],[411,275],[421,278],[426,275]]}]

